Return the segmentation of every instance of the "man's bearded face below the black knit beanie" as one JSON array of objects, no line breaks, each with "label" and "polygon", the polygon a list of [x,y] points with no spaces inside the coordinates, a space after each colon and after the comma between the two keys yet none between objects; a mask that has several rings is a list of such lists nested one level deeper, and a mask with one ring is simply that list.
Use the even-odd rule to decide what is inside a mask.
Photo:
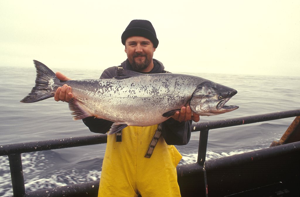
[{"label": "man's bearded face below the black knit beanie", "polygon": [[152,63],[155,48],[148,38],[132,36],[126,39],[125,53],[133,69],[144,71]]}]

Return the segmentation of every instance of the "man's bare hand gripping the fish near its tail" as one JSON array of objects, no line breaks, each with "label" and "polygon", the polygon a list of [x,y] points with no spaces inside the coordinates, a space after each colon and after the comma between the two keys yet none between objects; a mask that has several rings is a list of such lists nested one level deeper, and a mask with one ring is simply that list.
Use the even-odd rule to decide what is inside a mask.
[{"label": "man's bare hand gripping the fish near its tail", "polygon": [[[61,81],[70,80],[70,78],[61,74],[61,72],[56,72],[55,75]],[[67,84],[64,84],[62,87],[57,88],[55,95],[54,95],[54,100],[56,100],[56,101],[61,100],[63,102],[69,102],[70,99],[73,97],[74,97],[74,95],[72,94],[72,88],[70,86],[68,86]]]}]

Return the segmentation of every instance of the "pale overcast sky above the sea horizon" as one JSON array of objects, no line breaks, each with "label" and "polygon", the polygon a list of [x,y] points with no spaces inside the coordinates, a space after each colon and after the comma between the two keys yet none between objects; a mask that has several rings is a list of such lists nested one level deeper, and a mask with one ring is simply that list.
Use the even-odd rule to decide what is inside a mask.
[{"label": "pale overcast sky above the sea horizon", "polygon": [[118,66],[133,19],[152,22],[171,72],[300,76],[299,0],[1,0],[0,66]]}]

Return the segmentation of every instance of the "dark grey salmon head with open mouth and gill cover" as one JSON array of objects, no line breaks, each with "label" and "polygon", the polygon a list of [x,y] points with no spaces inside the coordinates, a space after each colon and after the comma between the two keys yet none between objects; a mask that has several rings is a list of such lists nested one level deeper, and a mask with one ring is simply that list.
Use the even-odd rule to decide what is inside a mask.
[{"label": "dark grey salmon head with open mouth and gill cover", "polygon": [[190,107],[198,115],[218,115],[238,109],[235,105],[225,105],[237,91],[211,81],[198,85],[190,100]]}]

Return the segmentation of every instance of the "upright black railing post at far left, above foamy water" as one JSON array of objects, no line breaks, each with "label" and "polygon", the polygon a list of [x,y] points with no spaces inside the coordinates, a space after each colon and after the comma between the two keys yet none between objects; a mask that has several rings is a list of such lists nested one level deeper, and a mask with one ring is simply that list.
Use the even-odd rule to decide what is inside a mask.
[{"label": "upright black railing post at far left, above foamy water", "polygon": [[25,195],[25,185],[21,154],[8,155],[13,197]]}]

